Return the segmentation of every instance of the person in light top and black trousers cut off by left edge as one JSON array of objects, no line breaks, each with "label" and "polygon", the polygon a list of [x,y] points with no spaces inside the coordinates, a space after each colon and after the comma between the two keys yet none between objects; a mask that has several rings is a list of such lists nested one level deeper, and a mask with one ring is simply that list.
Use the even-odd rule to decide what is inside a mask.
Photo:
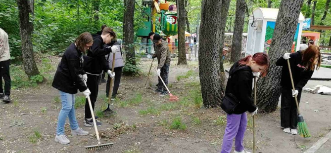
[{"label": "person in light top and black trousers cut off by left edge", "polygon": [[[8,35],[0,28],[0,99],[5,103],[10,103],[10,53]],[[2,88],[2,78],[4,80],[4,92]]]}]

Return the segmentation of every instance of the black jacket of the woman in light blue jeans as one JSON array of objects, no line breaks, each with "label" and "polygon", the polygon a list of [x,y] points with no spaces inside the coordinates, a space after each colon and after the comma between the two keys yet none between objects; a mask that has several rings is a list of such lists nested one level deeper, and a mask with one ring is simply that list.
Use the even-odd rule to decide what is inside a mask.
[{"label": "black jacket of the woman in light blue jeans", "polygon": [[82,52],[76,48],[75,43],[71,43],[57,67],[52,86],[70,94],[76,94],[77,89],[81,92],[88,89],[79,76],[85,74],[81,68],[82,63]]}]

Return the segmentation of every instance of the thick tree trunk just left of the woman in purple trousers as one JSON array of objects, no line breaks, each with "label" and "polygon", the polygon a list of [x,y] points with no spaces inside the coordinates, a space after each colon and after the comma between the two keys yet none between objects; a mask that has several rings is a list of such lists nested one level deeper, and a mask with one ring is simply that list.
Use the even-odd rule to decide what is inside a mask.
[{"label": "thick tree trunk just left of the woman in purple trousers", "polygon": [[199,76],[203,106],[206,108],[220,106],[224,94],[220,72],[221,28],[226,24],[222,22],[226,17],[221,13],[220,6],[223,2],[224,0],[203,0],[201,7]]}]

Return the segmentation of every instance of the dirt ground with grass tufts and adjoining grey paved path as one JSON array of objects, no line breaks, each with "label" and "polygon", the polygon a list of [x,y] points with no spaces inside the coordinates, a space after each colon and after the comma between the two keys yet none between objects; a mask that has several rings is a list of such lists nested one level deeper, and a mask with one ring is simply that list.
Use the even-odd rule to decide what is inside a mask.
[{"label": "dirt ground with grass tufts and adjoining grey paved path", "polygon": [[[54,59],[58,61],[59,59]],[[54,61],[52,61],[54,62]],[[226,115],[221,109],[198,108],[191,99],[198,82],[198,62],[189,66],[175,66],[172,61],[169,85],[179,102],[169,102],[169,97],[160,97],[156,89],[156,73],[145,86],[146,76],[127,77],[121,80],[118,99],[111,105],[116,114],[100,116],[102,143],[114,145],[96,153],[219,153],[226,125]],[[156,65],[156,62],[154,63]],[[142,60],[146,75],[149,62]],[[193,74],[177,80],[189,70]],[[327,81],[309,81],[307,86],[331,84]],[[94,128],[83,123],[84,105],[76,109],[80,127],[90,132],[88,136],[70,135],[70,126],[65,126],[71,141],[61,145],[54,141],[57,116],[61,109],[58,91],[48,82],[36,88],[12,91],[13,102],[0,103],[0,152],[1,153],[85,153],[85,146],[96,145]],[[105,83],[99,86],[96,114],[105,107]],[[77,94],[76,97],[81,96]],[[271,114],[257,115],[258,153],[302,153],[331,130],[330,96],[302,94],[301,111],[308,124],[312,138],[286,134],[280,128],[280,109]],[[76,101],[77,103],[77,101]],[[279,105],[280,106],[280,105]],[[100,114],[99,114],[100,115]],[[182,119],[186,129],[169,128],[176,117]],[[198,119],[196,119],[198,118]],[[251,117],[249,117],[251,118]],[[252,146],[252,126],[249,119],[244,144]],[[330,146],[330,145],[329,145]]]}]

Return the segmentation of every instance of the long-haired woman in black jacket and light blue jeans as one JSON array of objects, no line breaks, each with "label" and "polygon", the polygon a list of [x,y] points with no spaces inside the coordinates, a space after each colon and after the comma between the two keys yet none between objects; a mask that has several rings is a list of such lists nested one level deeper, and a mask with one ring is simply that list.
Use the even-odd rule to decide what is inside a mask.
[{"label": "long-haired woman in black jacket and light blue jeans", "polygon": [[91,92],[85,82],[87,76],[82,70],[83,53],[93,44],[93,38],[90,33],[81,34],[71,43],[64,52],[61,62],[57,67],[52,86],[59,90],[62,103],[62,109],[58,115],[55,141],[60,144],[69,144],[70,141],[64,135],[64,124],[69,117],[72,135],[88,135],[78,126],[75,114],[75,94],[77,90],[88,97]]}]

